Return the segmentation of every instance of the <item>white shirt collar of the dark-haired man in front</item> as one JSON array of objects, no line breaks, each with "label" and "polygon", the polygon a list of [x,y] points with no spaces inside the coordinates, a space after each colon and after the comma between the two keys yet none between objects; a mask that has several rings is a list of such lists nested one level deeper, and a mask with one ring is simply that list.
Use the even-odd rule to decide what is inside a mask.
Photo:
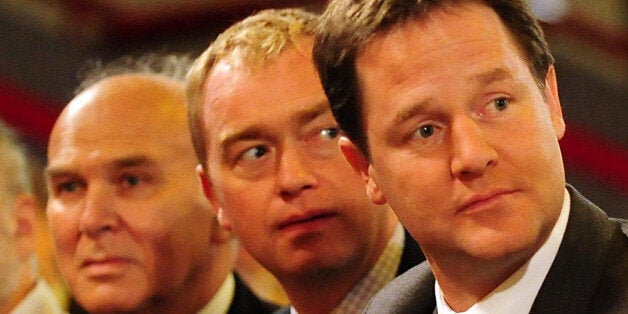
[{"label": "white shirt collar of the dark-haired man in front", "polygon": [[[567,228],[570,207],[571,199],[569,192],[565,189],[563,207],[545,243],[506,281],[462,313],[528,313],[558,253]],[[438,313],[457,313],[445,302],[438,281],[435,283],[435,294]]]}]

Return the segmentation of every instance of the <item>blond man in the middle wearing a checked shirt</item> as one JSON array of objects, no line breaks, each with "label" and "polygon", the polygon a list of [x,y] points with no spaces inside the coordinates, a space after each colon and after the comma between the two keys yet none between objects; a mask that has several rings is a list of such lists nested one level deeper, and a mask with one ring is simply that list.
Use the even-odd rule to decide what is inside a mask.
[{"label": "blond man in the middle wearing a checked shirt", "polygon": [[359,313],[423,256],[338,150],[311,60],[316,25],[288,9],[228,28],[190,71],[189,120],[221,225],[275,275],[292,309]]}]

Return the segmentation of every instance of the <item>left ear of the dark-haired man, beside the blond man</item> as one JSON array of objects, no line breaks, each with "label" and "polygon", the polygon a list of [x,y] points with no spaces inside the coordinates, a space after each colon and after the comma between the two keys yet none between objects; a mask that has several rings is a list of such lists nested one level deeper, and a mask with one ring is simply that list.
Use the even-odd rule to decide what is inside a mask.
[{"label": "left ear of the dark-haired man, beside the blond man", "polygon": [[372,173],[375,172],[373,166],[368,162],[364,154],[357,148],[353,142],[345,136],[340,137],[338,140],[338,147],[345,159],[353,168],[366,186],[366,194],[371,201],[376,205],[383,205],[386,203],[386,198],[382,194],[379,186],[373,179]]}]

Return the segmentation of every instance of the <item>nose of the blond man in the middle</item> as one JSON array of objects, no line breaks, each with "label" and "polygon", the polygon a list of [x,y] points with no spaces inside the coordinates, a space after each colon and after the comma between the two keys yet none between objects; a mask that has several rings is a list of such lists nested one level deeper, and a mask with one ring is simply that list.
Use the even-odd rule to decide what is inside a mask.
[{"label": "nose of the blond man in the middle", "polygon": [[292,196],[316,185],[316,176],[305,149],[299,145],[285,145],[279,158],[277,186],[283,196]]}]

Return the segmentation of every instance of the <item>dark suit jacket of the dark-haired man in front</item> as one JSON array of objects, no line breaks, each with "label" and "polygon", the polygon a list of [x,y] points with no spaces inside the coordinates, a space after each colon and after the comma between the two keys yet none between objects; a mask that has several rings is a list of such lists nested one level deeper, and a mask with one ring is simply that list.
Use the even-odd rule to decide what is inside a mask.
[{"label": "dark suit jacket of the dark-haired man in front", "polygon": [[[530,313],[628,313],[628,221],[609,219],[567,188],[567,229]],[[433,313],[435,308],[434,275],[425,262],[384,287],[366,313]]]}]

